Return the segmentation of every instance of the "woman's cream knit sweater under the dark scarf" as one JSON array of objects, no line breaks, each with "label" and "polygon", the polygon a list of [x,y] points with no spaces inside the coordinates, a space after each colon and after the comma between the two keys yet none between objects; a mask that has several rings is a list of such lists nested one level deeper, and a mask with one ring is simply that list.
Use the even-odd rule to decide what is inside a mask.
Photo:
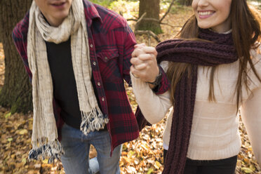
[{"label": "woman's cream knit sweater under the dark scarf", "polygon": [[[261,49],[261,46],[260,46]],[[257,73],[261,76],[261,50],[251,51]],[[164,71],[168,62],[162,62]],[[220,65],[215,72],[215,102],[208,100],[210,70],[199,67],[196,89],[196,102],[187,157],[196,160],[225,159],[239,154],[241,138],[239,135],[239,116],[236,116],[236,86],[239,61]],[[248,72],[250,90],[243,86],[241,116],[246,126],[253,152],[261,165],[261,83],[253,72]],[[170,92],[155,95],[149,85],[131,75],[133,92],[142,114],[149,123],[158,123],[171,107]],[[163,147],[168,149],[173,109],[168,114],[163,133]]]}]

